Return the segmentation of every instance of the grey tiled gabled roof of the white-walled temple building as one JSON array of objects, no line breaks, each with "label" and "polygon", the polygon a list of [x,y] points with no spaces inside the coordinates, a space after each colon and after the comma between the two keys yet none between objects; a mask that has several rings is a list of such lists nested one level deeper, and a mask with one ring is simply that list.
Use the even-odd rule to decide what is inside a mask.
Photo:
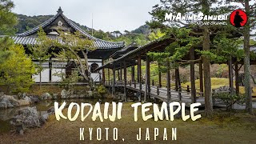
[{"label": "grey tiled gabled roof of the white-walled temple building", "polygon": [[[96,46],[98,49],[113,49],[113,48],[122,48],[124,47],[124,42],[108,42],[99,38],[94,38],[90,34],[86,33],[85,30],[82,30],[79,26],[75,25],[74,22],[72,22],[69,18],[66,18],[66,16],[63,14],[62,10],[58,10],[58,14],[54,15],[54,17],[48,19],[46,22],[43,22],[41,25],[34,27],[31,30],[28,30],[22,34],[16,34],[16,36],[11,37],[14,39],[14,42],[17,44],[22,45],[34,45],[36,43],[36,37],[30,36],[31,34],[34,34],[38,32],[40,27],[44,28],[48,25],[50,25],[51,22],[54,22],[58,16],[62,16],[64,20],[72,27],[74,30],[78,30],[81,34],[85,35],[87,38],[90,38],[94,41],[94,46]],[[57,36],[55,36],[57,37]]]}]

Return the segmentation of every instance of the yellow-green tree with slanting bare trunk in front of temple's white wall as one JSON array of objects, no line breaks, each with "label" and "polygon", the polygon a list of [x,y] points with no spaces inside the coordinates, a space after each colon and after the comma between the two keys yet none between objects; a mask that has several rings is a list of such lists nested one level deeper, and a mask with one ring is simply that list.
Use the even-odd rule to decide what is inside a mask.
[{"label": "yellow-green tree with slanting bare trunk in front of temple's white wall", "polygon": [[90,82],[90,86],[92,86],[87,52],[95,50],[93,42],[79,32],[72,34],[69,31],[59,30],[58,33],[62,41],[54,41],[54,46],[60,50],[54,55],[63,62],[73,61],[78,73],[85,81]]}]

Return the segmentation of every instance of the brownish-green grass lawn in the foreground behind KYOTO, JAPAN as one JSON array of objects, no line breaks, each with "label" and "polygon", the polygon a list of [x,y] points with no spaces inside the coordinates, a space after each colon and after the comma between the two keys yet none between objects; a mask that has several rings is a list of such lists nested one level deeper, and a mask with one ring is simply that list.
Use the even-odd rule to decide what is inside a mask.
[{"label": "brownish-green grass lawn in the foreground behind KYOTO, JAPAN", "polygon": [[[93,140],[88,140],[88,127],[94,129],[102,128],[102,141],[100,143],[255,143],[256,142],[256,117],[249,114],[239,112],[226,112],[222,110],[214,110],[213,118],[202,118],[192,122],[188,120],[183,122],[181,118],[175,119],[174,122],[158,121],[149,119],[143,122],[141,110],[138,110],[138,122],[134,122],[134,109],[130,106],[132,103],[124,103],[122,107],[122,119],[116,122],[104,120],[99,122],[98,118],[95,122],[91,120],[91,115],[86,118],[85,122],[77,119],[74,122],[61,119],[59,122],[55,116],[50,117],[46,125],[38,129],[27,130],[23,136],[17,134],[0,134],[0,143],[98,143],[96,134],[93,132]],[[111,105],[110,105],[111,106]],[[103,105],[102,105],[103,109]],[[152,108],[150,107],[150,110]],[[64,115],[65,114],[64,110]],[[256,112],[256,111],[255,111]],[[150,114],[150,113],[148,113]],[[80,118],[80,117],[78,117]],[[79,128],[85,128],[85,141],[79,141]],[[105,138],[105,128],[110,128],[109,141]],[[118,128],[118,141],[113,141],[114,127]],[[141,127],[142,141],[136,140],[138,128]],[[144,130],[150,128],[150,140],[145,141]],[[159,128],[159,136],[157,141],[154,140],[154,128]],[[163,128],[169,130],[168,141],[162,141]],[[171,141],[171,128],[177,128],[177,141]],[[95,131],[95,130],[94,130]],[[144,136],[143,136],[144,135]],[[122,138],[125,141],[122,141]]]}]

